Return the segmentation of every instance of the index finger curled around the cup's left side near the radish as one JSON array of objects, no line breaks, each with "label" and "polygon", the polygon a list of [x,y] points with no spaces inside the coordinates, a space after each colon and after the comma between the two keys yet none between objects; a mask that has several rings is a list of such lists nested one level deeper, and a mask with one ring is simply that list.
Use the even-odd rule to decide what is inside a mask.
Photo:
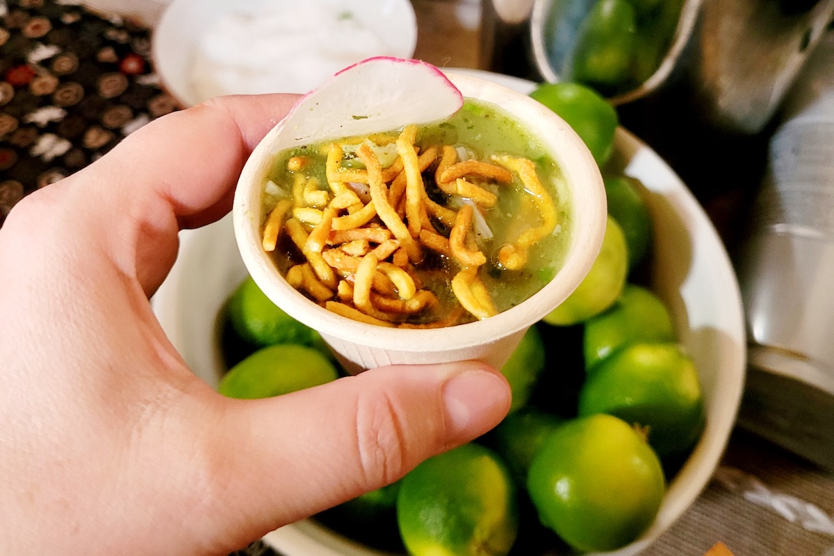
[{"label": "index finger curled around the cup's left side near the radish", "polygon": [[125,138],[88,171],[110,177],[109,186],[133,201],[140,188],[153,192],[179,227],[203,226],[229,211],[249,154],[298,98],[217,97],[173,112]]}]

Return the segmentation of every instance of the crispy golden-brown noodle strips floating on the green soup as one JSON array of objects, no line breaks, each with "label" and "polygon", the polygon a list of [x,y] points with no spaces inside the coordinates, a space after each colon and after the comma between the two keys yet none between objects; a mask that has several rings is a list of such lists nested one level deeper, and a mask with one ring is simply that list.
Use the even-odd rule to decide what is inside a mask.
[{"label": "crispy golden-brown noodle strips floating on the green soup", "polygon": [[[483,241],[492,234],[480,212],[495,206],[502,186],[515,181],[523,187],[523,202],[535,207],[540,221],[500,246],[493,261],[519,271],[530,248],[554,232],[554,201],[529,159],[459,161],[450,145],[420,152],[416,136],[417,127],[406,126],[399,136],[332,142],[325,148],[325,184],[305,173],[309,156],[289,158],[292,183],[264,220],[264,251],[275,251],[281,235],[288,236],[304,258],[287,271],[289,284],[353,320],[435,328],[472,316],[489,318],[497,310],[479,272],[488,262]],[[343,166],[346,156],[361,161],[364,169]],[[448,202],[433,201],[429,191]],[[460,305],[451,310],[439,310],[437,295],[415,271],[427,252],[452,269],[451,291]]]}]

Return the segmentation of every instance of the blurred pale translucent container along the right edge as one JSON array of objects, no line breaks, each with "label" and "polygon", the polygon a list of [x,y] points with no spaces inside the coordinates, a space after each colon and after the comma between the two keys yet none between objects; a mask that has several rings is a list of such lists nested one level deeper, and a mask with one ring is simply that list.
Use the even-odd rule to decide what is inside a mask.
[{"label": "blurred pale translucent container along the right edge", "polygon": [[741,246],[740,423],[834,469],[834,29],[786,97]]}]

